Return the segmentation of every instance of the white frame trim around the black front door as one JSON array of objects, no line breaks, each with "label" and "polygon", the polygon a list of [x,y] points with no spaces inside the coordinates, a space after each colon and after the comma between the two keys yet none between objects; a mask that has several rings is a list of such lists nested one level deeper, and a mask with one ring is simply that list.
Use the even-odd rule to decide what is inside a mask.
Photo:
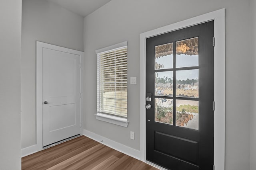
[{"label": "white frame trim around the black front door", "polygon": [[214,166],[225,169],[225,9],[140,34],[140,159],[146,161],[146,38],[214,20]]}]

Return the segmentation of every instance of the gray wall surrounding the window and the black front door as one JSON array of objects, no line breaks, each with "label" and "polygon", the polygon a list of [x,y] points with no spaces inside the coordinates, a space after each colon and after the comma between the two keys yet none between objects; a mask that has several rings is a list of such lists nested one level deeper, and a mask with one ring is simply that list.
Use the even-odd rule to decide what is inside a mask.
[{"label": "gray wall surrounding the window and the black front door", "polygon": [[[226,8],[226,170],[248,170],[252,76],[249,0],[112,0],[85,17],[85,80],[90,82],[85,83],[85,129],[139,150],[140,33],[221,8]],[[128,85],[127,128],[94,116],[95,50],[122,41],[128,41],[128,77],[137,77],[137,85]],[[130,139],[130,131],[135,132],[135,141]]]}]

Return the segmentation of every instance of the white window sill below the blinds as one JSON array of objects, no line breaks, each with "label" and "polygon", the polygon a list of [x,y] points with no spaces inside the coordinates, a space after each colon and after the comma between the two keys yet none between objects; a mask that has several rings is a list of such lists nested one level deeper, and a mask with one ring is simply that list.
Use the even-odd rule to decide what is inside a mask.
[{"label": "white window sill below the blinds", "polygon": [[95,117],[97,120],[100,120],[100,121],[105,121],[105,122],[119,125],[122,127],[128,126],[128,121],[126,118],[116,117],[116,116],[112,116],[112,115],[105,115],[105,114],[101,114],[101,113],[97,113],[95,115]]}]

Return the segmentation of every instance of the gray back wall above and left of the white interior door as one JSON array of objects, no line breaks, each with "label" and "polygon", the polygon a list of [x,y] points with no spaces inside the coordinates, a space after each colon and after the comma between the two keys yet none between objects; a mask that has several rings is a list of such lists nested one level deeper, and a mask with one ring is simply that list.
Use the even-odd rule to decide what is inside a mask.
[{"label": "gray back wall above and left of the white interior door", "polygon": [[22,148],[36,144],[36,41],[83,51],[83,22],[46,0],[22,1]]}]

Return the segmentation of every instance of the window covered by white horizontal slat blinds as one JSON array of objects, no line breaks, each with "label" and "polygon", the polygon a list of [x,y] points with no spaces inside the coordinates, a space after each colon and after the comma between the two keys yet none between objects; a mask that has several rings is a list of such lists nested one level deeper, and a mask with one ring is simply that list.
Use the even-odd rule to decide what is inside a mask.
[{"label": "window covered by white horizontal slat blinds", "polygon": [[[120,43],[119,45],[124,45]],[[110,47],[111,48],[111,47]],[[109,48],[104,48],[109,49]],[[126,46],[97,53],[97,112],[127,117]]]}]

